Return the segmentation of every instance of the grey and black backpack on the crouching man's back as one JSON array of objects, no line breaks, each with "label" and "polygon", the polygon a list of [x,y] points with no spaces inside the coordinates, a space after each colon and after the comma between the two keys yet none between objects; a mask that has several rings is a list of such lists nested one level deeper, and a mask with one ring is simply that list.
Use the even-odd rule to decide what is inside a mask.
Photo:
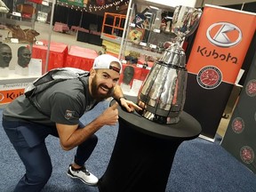
[{"label": "grey and black backpack on the crouching man's back", "polygon": [[81,77],[89,76],[90,73],[88,71],[84,71],[79,68],[53,68],[44,74],[44,76],[38,77],[33,83],[28,84],[25,88],[24,94],[26,98],[28,98],[29,102],[44,116],[49,116],[41,110],[41,107],[36,102],[36,100],[32,100],[32,98],[38,94],[39,92],[43,92],[53,84],[57,84],[62,81],[66,81],[68,79],[78,78],[84,86],[84,94],[85,94],[85,83],[81,80]]}]

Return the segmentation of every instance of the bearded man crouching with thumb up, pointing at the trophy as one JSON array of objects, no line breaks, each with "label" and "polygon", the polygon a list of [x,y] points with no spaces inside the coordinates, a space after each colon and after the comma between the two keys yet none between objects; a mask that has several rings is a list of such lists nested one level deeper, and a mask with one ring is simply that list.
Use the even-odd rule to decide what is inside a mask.
[{"label": "bearded man crouching with thumb up, pointing at the trophy", "polygon": [[102,54],[94,60],[90,76],[82,77],[85,86],[78,79],[69,79],[36,94],[33,100],[49,117],[38,112],[23,95],[4,108],[4,130],[26,167],[15,192],[40,191],[49,180],[52,164],[44,143],[48,134],[58,136],[64,150],[77,147],[74,162],[68,167],[68,176],[88,185],[97,184],[98,179],[88,172],[84,163],[97,144],[94,132],[104,125],[117,123],[117,104],[107,108],[90,124],[81,124],[79,118],[111,96],[129,112],[141,109],[124,99],[117,85],[121,70],[119,60]]}]

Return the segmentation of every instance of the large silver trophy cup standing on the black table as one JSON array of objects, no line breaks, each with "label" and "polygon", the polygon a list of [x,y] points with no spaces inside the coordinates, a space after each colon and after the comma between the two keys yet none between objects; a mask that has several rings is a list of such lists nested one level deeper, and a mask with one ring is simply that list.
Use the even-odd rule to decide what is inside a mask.
[{"label": "large silver trophy cup standing on the black table", "polygon": [[187,68],[182,42],[195,32],[202,11],[188,6],[177,6],[173,12],[172,44],[154,63],[140,87],[137,104],[141,116],[159,124],[176,124],[180,121],[186,97]]}]

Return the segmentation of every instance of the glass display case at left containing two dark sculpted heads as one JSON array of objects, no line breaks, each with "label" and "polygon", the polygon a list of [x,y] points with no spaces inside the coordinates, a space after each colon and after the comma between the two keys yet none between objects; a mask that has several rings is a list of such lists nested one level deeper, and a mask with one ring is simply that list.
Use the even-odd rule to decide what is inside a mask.
[{"label": "glass display case at left containing two dark sculpted heads", "polygon": [[8,12],[0,12],[0,106],[23,94],[25,87],[47,67],[46,62],[42,63],[46,54],[41,54],[44,58],[33,56],[34,47],[40,46],[36,38],[42,38],[43,34],[51,36],[51,32],[45,32],[45,26],[36,21],[38,4],[42,2],[14,1],[12,8],[5,4]]}]

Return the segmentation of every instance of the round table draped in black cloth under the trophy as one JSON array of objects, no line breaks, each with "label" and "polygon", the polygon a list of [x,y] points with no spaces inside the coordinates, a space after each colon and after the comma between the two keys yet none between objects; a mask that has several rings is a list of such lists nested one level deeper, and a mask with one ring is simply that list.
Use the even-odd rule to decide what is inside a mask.
[{"label": "round table draped in black cloth under the trophy", "polygon": [[198,137],[201,125],[185,111],[178,124],[156,124],[136,112],[118,111],[116,144],[99,180],[100,192],[164,192],[177,148]]}]

